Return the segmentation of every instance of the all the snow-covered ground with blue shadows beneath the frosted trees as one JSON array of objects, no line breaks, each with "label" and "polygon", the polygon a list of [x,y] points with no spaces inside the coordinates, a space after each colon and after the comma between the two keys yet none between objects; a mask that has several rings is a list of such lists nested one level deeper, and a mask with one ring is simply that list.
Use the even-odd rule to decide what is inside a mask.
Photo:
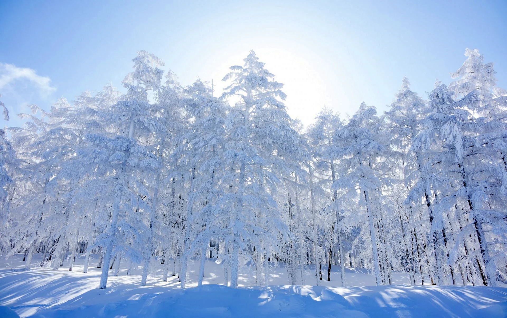
[{"label": "all the snow-covered ground with blue shadows beneath the frosted trees", "polygon": [[[272,286],[252,286],[248,273],[240,276],[240,288],[205,285],[180,289],[177,277],[162,282],[162,266],[153,266],[147,286],[140,286],[141,268],[126,275],[111,276],[105,290],[99,290],[100,268],[90,261],[83,274],[84,255],[72,271],[65,262],[59,270],[39,267],[34,255],[32,268],[23,270],[22,254],[5,260],[0,256],[0,305],[22,317],[506,317],[507,288],[473,286],[371,286],[366,271],[347,268],[349,285],[340,285],[339,273],[332,271],[331,282],[322,287],[286,285],[283,267],[271,270]],[[125,264],[123,264],[125,265]],[[190,264],[189,286],[197,285],[197,264]],[[335,269],[335,268],[333,268]],[[312,284],[313,271],[307,270],[306,284]],[[206,263],[203,284],[223,282],[221,265]],[[323,275],[325,275],[323,273]],[[404,275],[394,275],[396,284],[407,283]],[[0,307],[0,318],[9,317]],[[11,314],[13,314],[11,312]]]}]

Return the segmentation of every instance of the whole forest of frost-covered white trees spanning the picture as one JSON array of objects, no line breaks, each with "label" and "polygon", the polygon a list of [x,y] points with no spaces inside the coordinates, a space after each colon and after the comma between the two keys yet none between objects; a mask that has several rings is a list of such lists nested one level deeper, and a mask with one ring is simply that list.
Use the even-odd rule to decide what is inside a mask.
[{"label": "whole forest of frost-covered white trees spanning the picture", "polygon": [[49,111],[32,105],[23,127],[0,130],[0,254],[60,270],[86,254],[80,268],[100,267],[101,289],[120,263],[127,275],[142,267],[140,285],[163,264],[151,279],[182,287],[192,264],[201,285],[209,260],[231,287],[238,271],[269,285],[276,267],[287,284],[319,286],[332,265],[341,286],[345,267],[377,285],[403,272],[412,285],[497,286],[507,91],[478,50],[465,56],[425,96],[403,78],[387,112],[324,107],[303,127],[253,51],[224,92],[183,86],[140,51],[123,93],[107,84]]}]

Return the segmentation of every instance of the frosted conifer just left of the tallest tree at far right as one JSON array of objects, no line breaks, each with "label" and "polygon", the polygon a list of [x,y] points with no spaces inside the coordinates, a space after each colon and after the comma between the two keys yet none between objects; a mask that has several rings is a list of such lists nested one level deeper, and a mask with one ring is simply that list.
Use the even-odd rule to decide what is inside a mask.
[{"label": "frosted conifer just left of the tallest tree at far right", "polygon": [[[462,120],[468,119],[466,112],[461,112],[452,99],[452,93],[448,91],[447,86],[441,82],[436,83],[435,88],[429,95],[429,114],[424,119],[424,128],[413,139],[411,151],[417,160],[418,169],[413,176],[416,182],[409,193],[406,203],[423,203],[427,206],[431,248],[433,250],[434,275],[438,285],[447,284],[447,266],[449,263],[450,250],[446,246],[447,235],[445,231],[446,213],[448,209],[456,209],[457,206],[450,202],[447,207],[444,206],[446,197],[444,189],[451,187],[452,177],[446,164],[452,163],[443,161],[442,155],[445,152],[445,138],[447,134],[441,131],[441,128],[452,119],[453,123],[461,125]],[[457,112],[452,113],[453,109]],[[456,115],[456,116],[454,116]],[[450,123],[452,124],[452,123]],[[454,129],[459,129],[453,126]],[[449,140],[452,136],[449,137]],[[453,145],[452,142],[450,145]],[[457,145],[460,147],[459,144]],[[451,147],[452,148],[452,147]],[[452,148],[455,149],[455,148]],[[452,159],[454,161],[454,159]],[[443,172],[441,172],[443,171]],[[438,197],[441,197],[438,199]],[[443,200],[442,200],[443,199]],[[456,203],[457,204],[457,203]],[[453,264],[449,264],[449,270],[453,282],[455,281]]]}]

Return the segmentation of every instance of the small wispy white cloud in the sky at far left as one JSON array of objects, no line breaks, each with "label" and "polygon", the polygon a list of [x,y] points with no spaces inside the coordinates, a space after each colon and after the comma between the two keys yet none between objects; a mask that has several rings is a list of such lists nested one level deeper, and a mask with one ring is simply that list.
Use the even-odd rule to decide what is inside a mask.
[{"label": "small wispy white cloud in the sky at far left", "polygon": [[30,81],[39,89],[42,96],[48,96],[56,90],[56,87],[51,86],[49,77],[37,75],[37,72],[31,68],[0,63],[0,89],[8,88],[17,80]]}]

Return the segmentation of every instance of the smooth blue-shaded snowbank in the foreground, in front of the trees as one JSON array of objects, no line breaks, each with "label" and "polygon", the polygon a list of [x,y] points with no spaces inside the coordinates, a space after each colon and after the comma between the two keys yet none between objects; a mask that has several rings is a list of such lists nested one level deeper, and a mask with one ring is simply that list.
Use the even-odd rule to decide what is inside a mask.
[{"label": "smooth blue-shaded snowbank in the foreground, in front of the trees", "polygon": [[[97,297],[107,299],[106,294]],[[507,316],[507,289],[427,286],[230,288],[203,285],[159,294],[139,294],[112,303],[65,307],[62,304],[43,309],[34,317],[494,318]]]}]

